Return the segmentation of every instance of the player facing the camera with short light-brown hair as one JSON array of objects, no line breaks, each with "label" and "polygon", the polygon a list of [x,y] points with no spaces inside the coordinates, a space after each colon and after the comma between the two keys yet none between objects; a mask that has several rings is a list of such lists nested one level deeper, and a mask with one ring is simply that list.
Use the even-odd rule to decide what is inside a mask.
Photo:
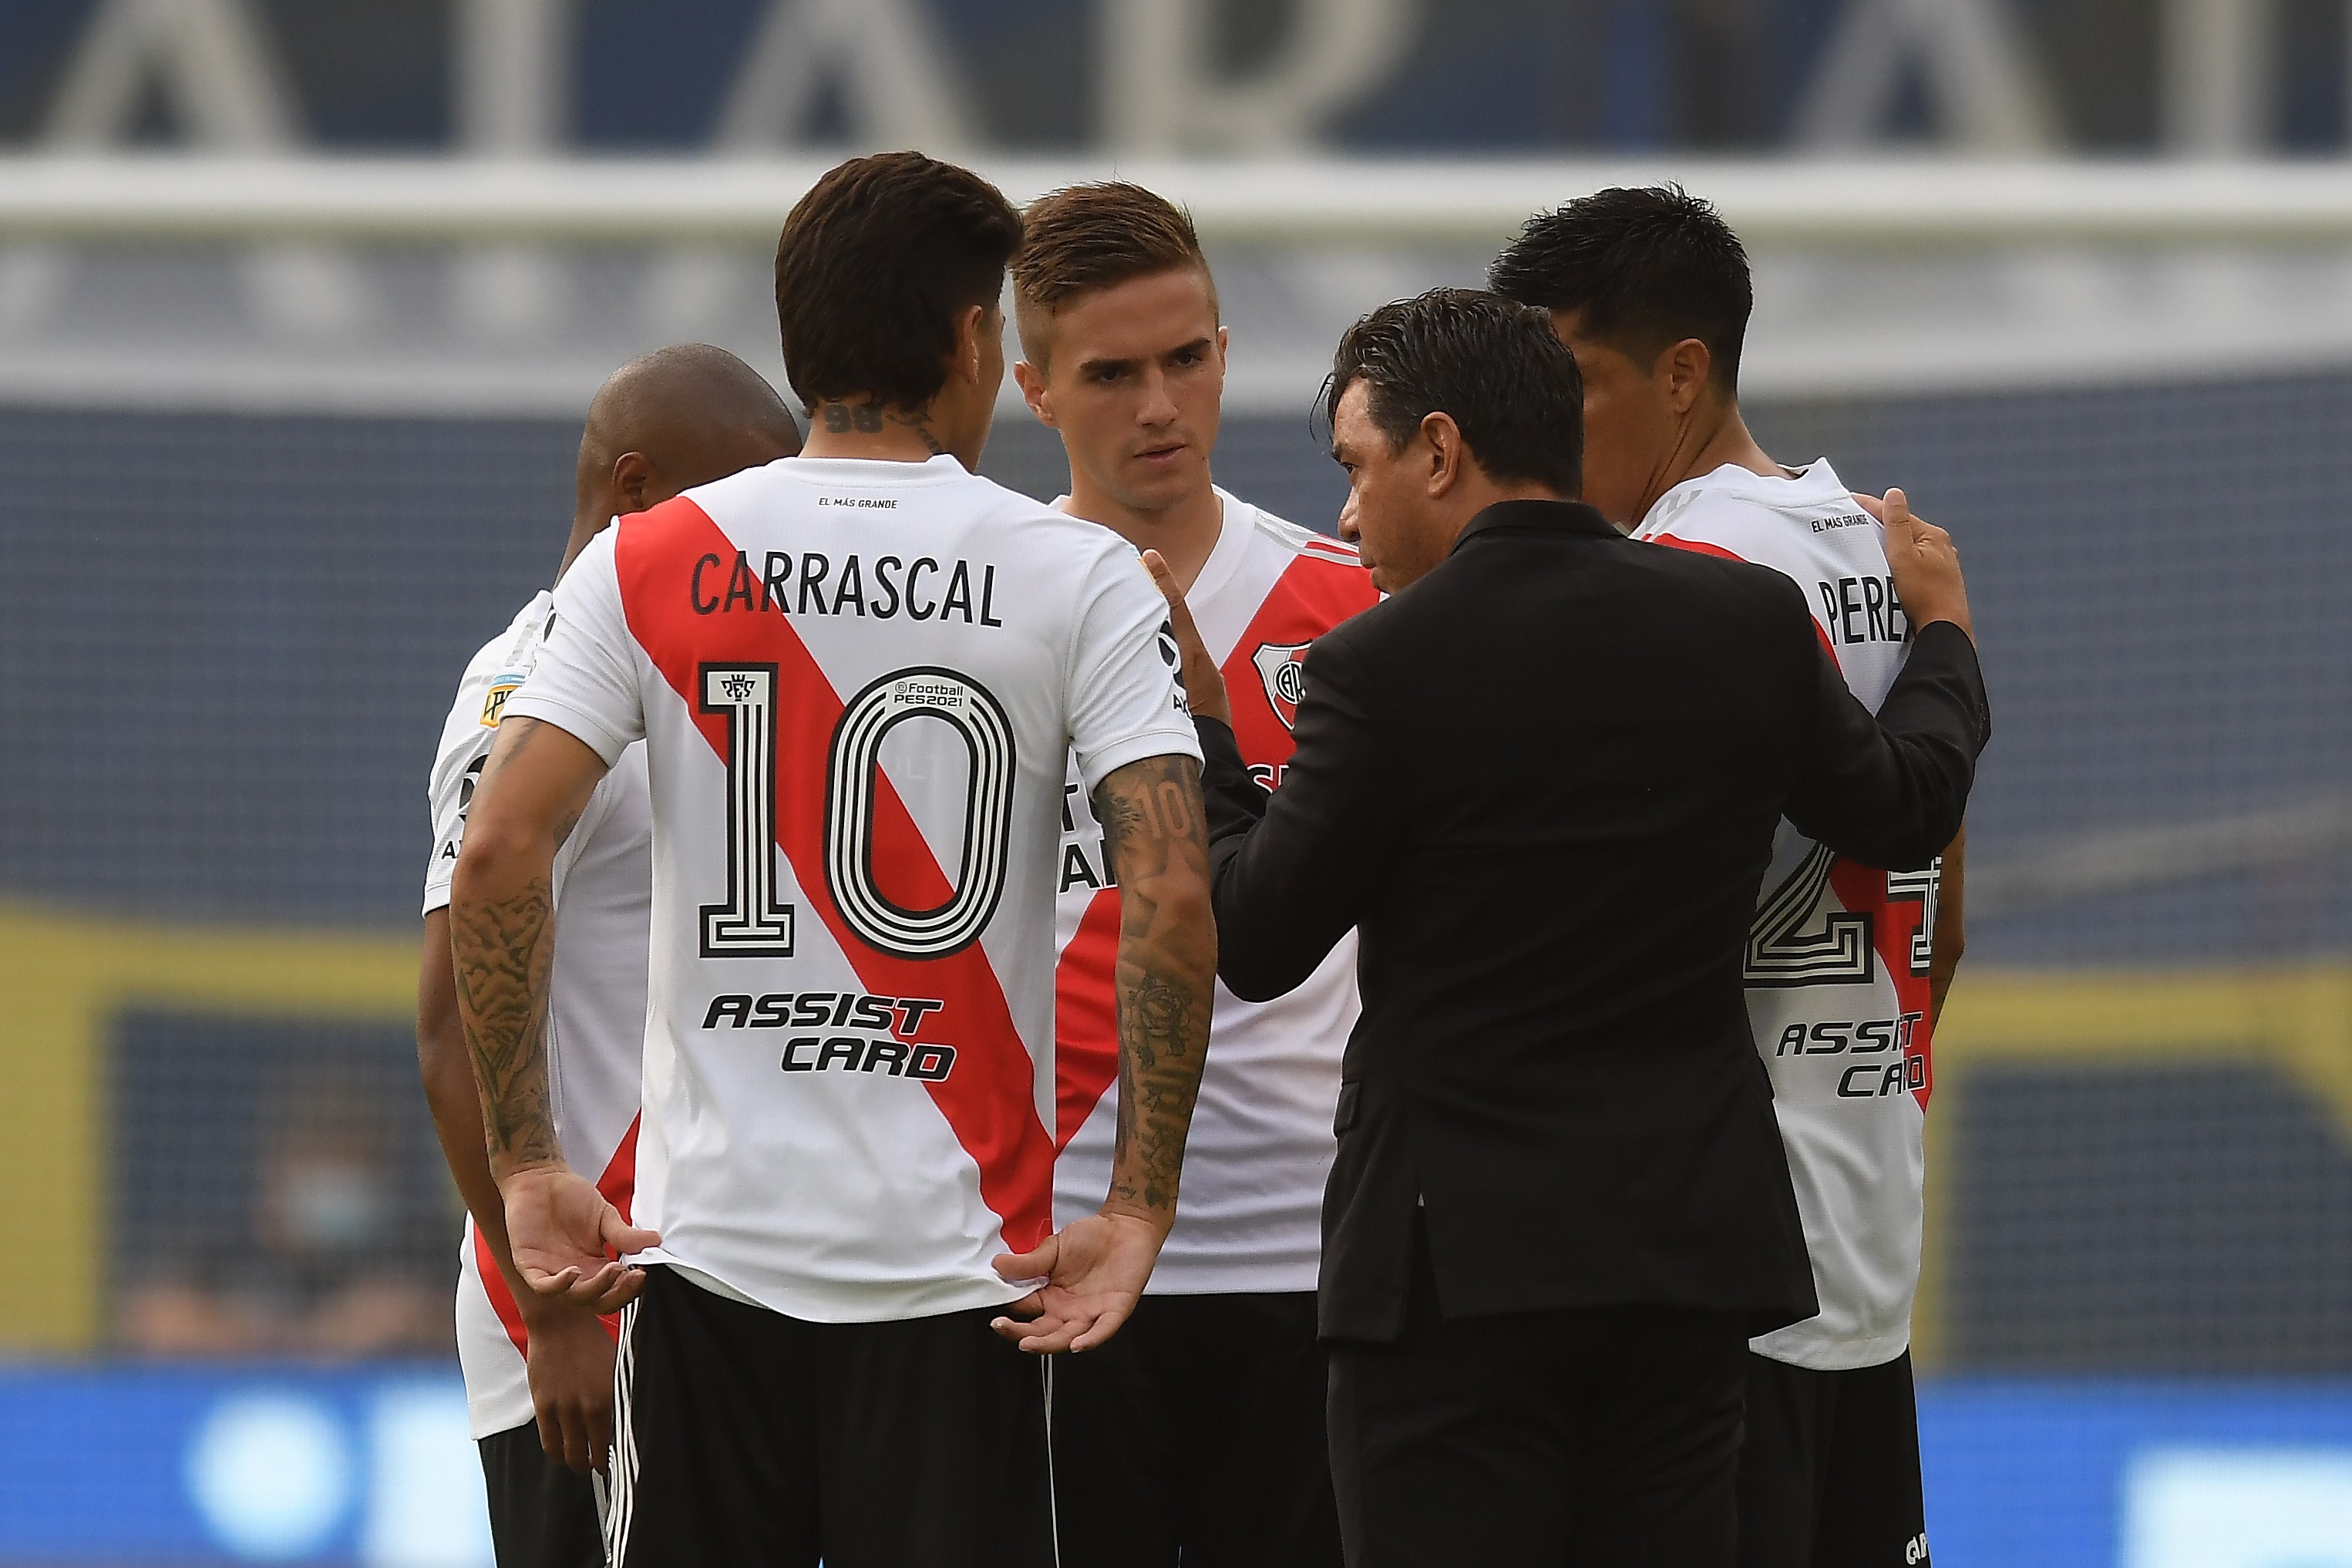
[{"label": "player facing the camera with short light-brown hair", "polygon": [[[1378,592],[1352,548],[1211,484],[1225,329],[1190,219],[1131,183],[1042,197],[1014,306],[1014,376],[1070,454],[1056,505],[1169,562],[1225,668],[1242,755],[1277,785],[1308,644]],[[1075,769],[1063,797],[1054,1206],[1070,1218],[1112,1168],[1120,891]],[[1279,1001],[1216,990],[1183,1213],[1124,1333],[1054,1375],[1065,1568],[1341,1561],[1315,1274],[1355,1016],[1352,938]]]}]

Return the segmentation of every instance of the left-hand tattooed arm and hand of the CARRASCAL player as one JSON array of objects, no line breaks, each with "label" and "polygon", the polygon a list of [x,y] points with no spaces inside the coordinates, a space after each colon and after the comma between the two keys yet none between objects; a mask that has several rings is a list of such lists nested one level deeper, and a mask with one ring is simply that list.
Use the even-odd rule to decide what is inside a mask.
[{"label": "left-hand tattooed arm and hand of the CARRASCAL player", "polygon": [[612,1312],[644,1284],[616,1255],[659,1237],[623,1225],[564,1164],[546,1056],[555,849],[602,776],[604,762],[553,724],[499,726],[449,889],[449,961],[515,1267],[541,1295]]}]

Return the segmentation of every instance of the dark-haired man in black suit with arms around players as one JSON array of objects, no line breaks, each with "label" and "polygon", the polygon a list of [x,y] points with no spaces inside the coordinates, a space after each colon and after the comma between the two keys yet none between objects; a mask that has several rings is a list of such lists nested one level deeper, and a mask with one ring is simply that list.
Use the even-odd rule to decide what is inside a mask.
[{"label": "dark-haired man in black suit with arms around players", "polygon": [[1362,933],[1319,1305],[1348,1563],[1729,1568],[1748,1335],[1816,1312],[1748,924],[1783,816],[1884,867],[1959,830],[1990,733],[1959,557],[1889,496],[1915,635],[1872,717],[1785,576],[1578,505],[1543,310],[1383,306],[1327,414],[1395,597],[1315,642],[1272,795],[1148,564],[1218,973],[1270,999]]}]

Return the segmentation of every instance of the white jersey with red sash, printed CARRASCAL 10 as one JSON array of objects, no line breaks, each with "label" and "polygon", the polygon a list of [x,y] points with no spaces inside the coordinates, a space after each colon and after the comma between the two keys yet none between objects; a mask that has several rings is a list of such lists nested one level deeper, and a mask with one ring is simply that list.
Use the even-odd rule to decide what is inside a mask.
[{"label": "white jersey with red sash, printed CARRASCAL 10", "polygon": [[783,458],[623,517],[508,715],[654,790],[642,1262],[811,1321],[993,1307],[1051,1225],[1054,870],[1200,757],[1117,534],[955,458]]}]

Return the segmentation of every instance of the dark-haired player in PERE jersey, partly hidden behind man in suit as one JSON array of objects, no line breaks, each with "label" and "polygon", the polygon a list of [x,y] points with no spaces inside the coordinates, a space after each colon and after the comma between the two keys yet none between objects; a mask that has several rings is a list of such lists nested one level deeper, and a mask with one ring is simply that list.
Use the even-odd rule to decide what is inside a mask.
[{"label": "dark-haired player in PERE jersey, partly hidden behind man in suit", "polygon": [[[1637,538],[1790,576],[1875,708],[1910,635],[1875,503],[1828,461],[1783,468],[1748,433],[1748,254],[1715,209],[1679,188],[1602,190],[1531,219],[1491,284],[1548,308],[1576,353],[1585,501]],[[1858,865],[1780,823],[1748,1018],[1820,1314],[1750,1342],[1743,1568],[1929,1561],[1910,1312],[1929,1041],[1959,950],[1959,842],[1938,889],[1936,870]]]}]

